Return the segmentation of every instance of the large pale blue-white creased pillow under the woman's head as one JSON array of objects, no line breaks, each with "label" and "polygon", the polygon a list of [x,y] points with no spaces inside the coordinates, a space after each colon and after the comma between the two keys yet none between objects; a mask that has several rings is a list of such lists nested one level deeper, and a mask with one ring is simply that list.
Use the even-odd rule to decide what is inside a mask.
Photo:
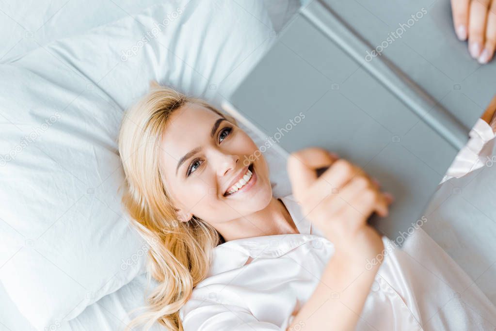
[{"label": "large pale blue-white creased pillow under the woman's head", "polygon": [[273,37],[263,2],[184,0],[0,65],[0,280],[35,328],[143,271],[118,192],[123,110],[152,79],[218,106]]}]

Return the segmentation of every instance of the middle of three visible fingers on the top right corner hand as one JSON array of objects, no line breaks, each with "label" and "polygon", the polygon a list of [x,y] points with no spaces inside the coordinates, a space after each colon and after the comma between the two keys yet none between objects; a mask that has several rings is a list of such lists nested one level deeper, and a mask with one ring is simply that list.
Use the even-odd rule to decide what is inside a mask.
[{"label": "middle of three visible fingers on the top right corner hand", "polygon": [[473,0],[469,9],[468,50],[479,58],[486,37],[486,18],[491,0]]}]

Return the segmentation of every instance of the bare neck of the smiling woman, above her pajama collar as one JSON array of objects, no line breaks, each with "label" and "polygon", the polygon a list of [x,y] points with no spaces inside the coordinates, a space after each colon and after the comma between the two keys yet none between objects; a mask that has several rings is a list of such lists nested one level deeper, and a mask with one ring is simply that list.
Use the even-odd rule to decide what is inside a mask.
[{"label": "bare neck of the smiling woman, above her pajama collar", "polygon": [[274,197],[264,209],[245,217],[216,224],[216,230],[226,241],[264,235],[299,233],[286,206]]}]

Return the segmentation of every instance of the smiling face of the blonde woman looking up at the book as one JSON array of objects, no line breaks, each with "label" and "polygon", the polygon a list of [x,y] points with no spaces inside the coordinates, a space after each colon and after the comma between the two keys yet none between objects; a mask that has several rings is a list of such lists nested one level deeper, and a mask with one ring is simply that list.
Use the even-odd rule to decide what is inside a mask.
[{"label": "smiling face of the blonde woman looking up at the book", "polygon": [[[185,105],[172,113],[161,153],[165,185],[181,221],[194,215],[215,227],[265,208],[272,198],[269,169],[253,140],[203,106]],[[228,195],[248,166],[251,178]]]}]

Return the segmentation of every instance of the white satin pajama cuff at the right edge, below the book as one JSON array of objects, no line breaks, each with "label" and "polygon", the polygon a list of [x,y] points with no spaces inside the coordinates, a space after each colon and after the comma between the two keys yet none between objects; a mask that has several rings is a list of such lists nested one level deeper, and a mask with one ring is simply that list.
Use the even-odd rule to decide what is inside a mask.
[{"label": "white satin pajama cuff at the right edge, below the book", "polygon": [[490,166],[496,163],[496,157],[492,156],[496,141],[493,128],[479,118],[470,130],[469,136],[469,141],[458,152],[439,184],[453,177],[460,178],[484,165]]}]

